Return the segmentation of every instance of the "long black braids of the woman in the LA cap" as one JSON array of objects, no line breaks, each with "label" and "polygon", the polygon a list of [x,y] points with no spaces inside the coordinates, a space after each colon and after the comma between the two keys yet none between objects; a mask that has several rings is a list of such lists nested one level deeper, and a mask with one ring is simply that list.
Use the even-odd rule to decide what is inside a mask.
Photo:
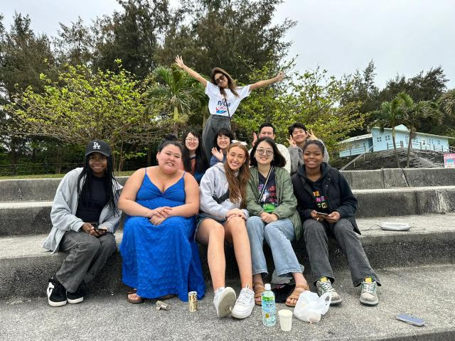
[{"label": "long black braids of the woman in the LA cap", "polygon": [[[105,171],[105,176],[103,177],[105,183],[105,191],[107,196],[107,205],[109,205],[110,210],[114,212],[114,215],[119,215],[119,209],[115,205],[116,196],[118,196],[119,185],[114,177],[114,167],[112,166],[112,156],[106,156],[107,158],[107,168]],[[80,198],[85,197],[85,205],[92,205],[92,178],[95,176],[92,174],[92,170],[89,166],[90,154],[85,156],[84,168],[77,178],[77,202],[80,203]],[[82,185],[81,185],[82,182]]]}]

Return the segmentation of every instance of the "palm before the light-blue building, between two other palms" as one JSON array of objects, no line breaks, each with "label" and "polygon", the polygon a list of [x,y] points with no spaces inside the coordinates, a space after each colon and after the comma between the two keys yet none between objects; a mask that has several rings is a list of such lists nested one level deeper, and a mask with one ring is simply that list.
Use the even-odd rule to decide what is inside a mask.
[{"label": "palm before the light-blue building, between two other palms", "polygon": [[431,101],[414,102],[412,97],[405,92],[400,92],[397,97],[400,100],[400,107],[403,111],[403,124],[410,131],[410,138],[407,142],[407,161],[406,168],[410,167],[410,151],[412,139],[415,138],[417,129],[422,124],[422,119],[431,119],[441,123],[442,113],[436,103]]}]

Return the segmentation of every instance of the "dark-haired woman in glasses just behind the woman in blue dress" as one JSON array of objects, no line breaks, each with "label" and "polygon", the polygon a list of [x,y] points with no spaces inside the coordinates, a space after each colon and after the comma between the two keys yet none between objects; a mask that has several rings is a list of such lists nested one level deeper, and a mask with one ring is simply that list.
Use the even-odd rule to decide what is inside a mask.
[{"label": "dark-haired woman in glasses just behind the woman in blue dress", "polygon": [[190,130],[185,139],[183,139],[181,169],[191,173],[196,181],[200,183],[200,179],[202,179],[202,175],[204,175],[207,168],[208,162],[200,136],[196,131]]}]

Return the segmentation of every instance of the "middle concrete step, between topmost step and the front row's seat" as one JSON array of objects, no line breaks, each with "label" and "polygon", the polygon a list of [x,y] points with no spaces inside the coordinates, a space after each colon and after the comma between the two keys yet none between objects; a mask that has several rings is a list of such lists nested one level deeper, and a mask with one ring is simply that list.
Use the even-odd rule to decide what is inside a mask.
[{"label": "middle concrete step, between topmost step and the front row's seat", "polygon": [[[357,217],[424,215],[455,211],[455,186],[353,190]],[[52,202],[0,202],[0,236],[47,233]]]}]

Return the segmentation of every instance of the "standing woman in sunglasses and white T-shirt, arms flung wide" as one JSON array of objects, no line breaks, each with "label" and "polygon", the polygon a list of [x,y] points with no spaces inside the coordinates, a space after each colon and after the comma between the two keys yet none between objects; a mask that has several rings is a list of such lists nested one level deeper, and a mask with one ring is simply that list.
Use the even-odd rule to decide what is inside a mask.
[{"label": "standing woman in sunglasses and white T-shirt, arms flung wide", "polygon": [[205,94],[208,96],[210,117],[205,124],[202,139],[208,160],[211,157],[210,151],[212,150],[213,140],[218,129],[226,128],[231,130],[230,120],[242,99],[247,97],[252,90],[272,85],[284,78],[284,74],[279,72],[276,77],[270,78],[269,80],[261,80],[245,87],[239,87],[232,80],[228,72],[220,67],[215,67],[212,70],[209,82],[198,72],[186,66],[181,56],[176,57],[176,65],[188,72],[188,75],[198,80],[205,87]]}]

